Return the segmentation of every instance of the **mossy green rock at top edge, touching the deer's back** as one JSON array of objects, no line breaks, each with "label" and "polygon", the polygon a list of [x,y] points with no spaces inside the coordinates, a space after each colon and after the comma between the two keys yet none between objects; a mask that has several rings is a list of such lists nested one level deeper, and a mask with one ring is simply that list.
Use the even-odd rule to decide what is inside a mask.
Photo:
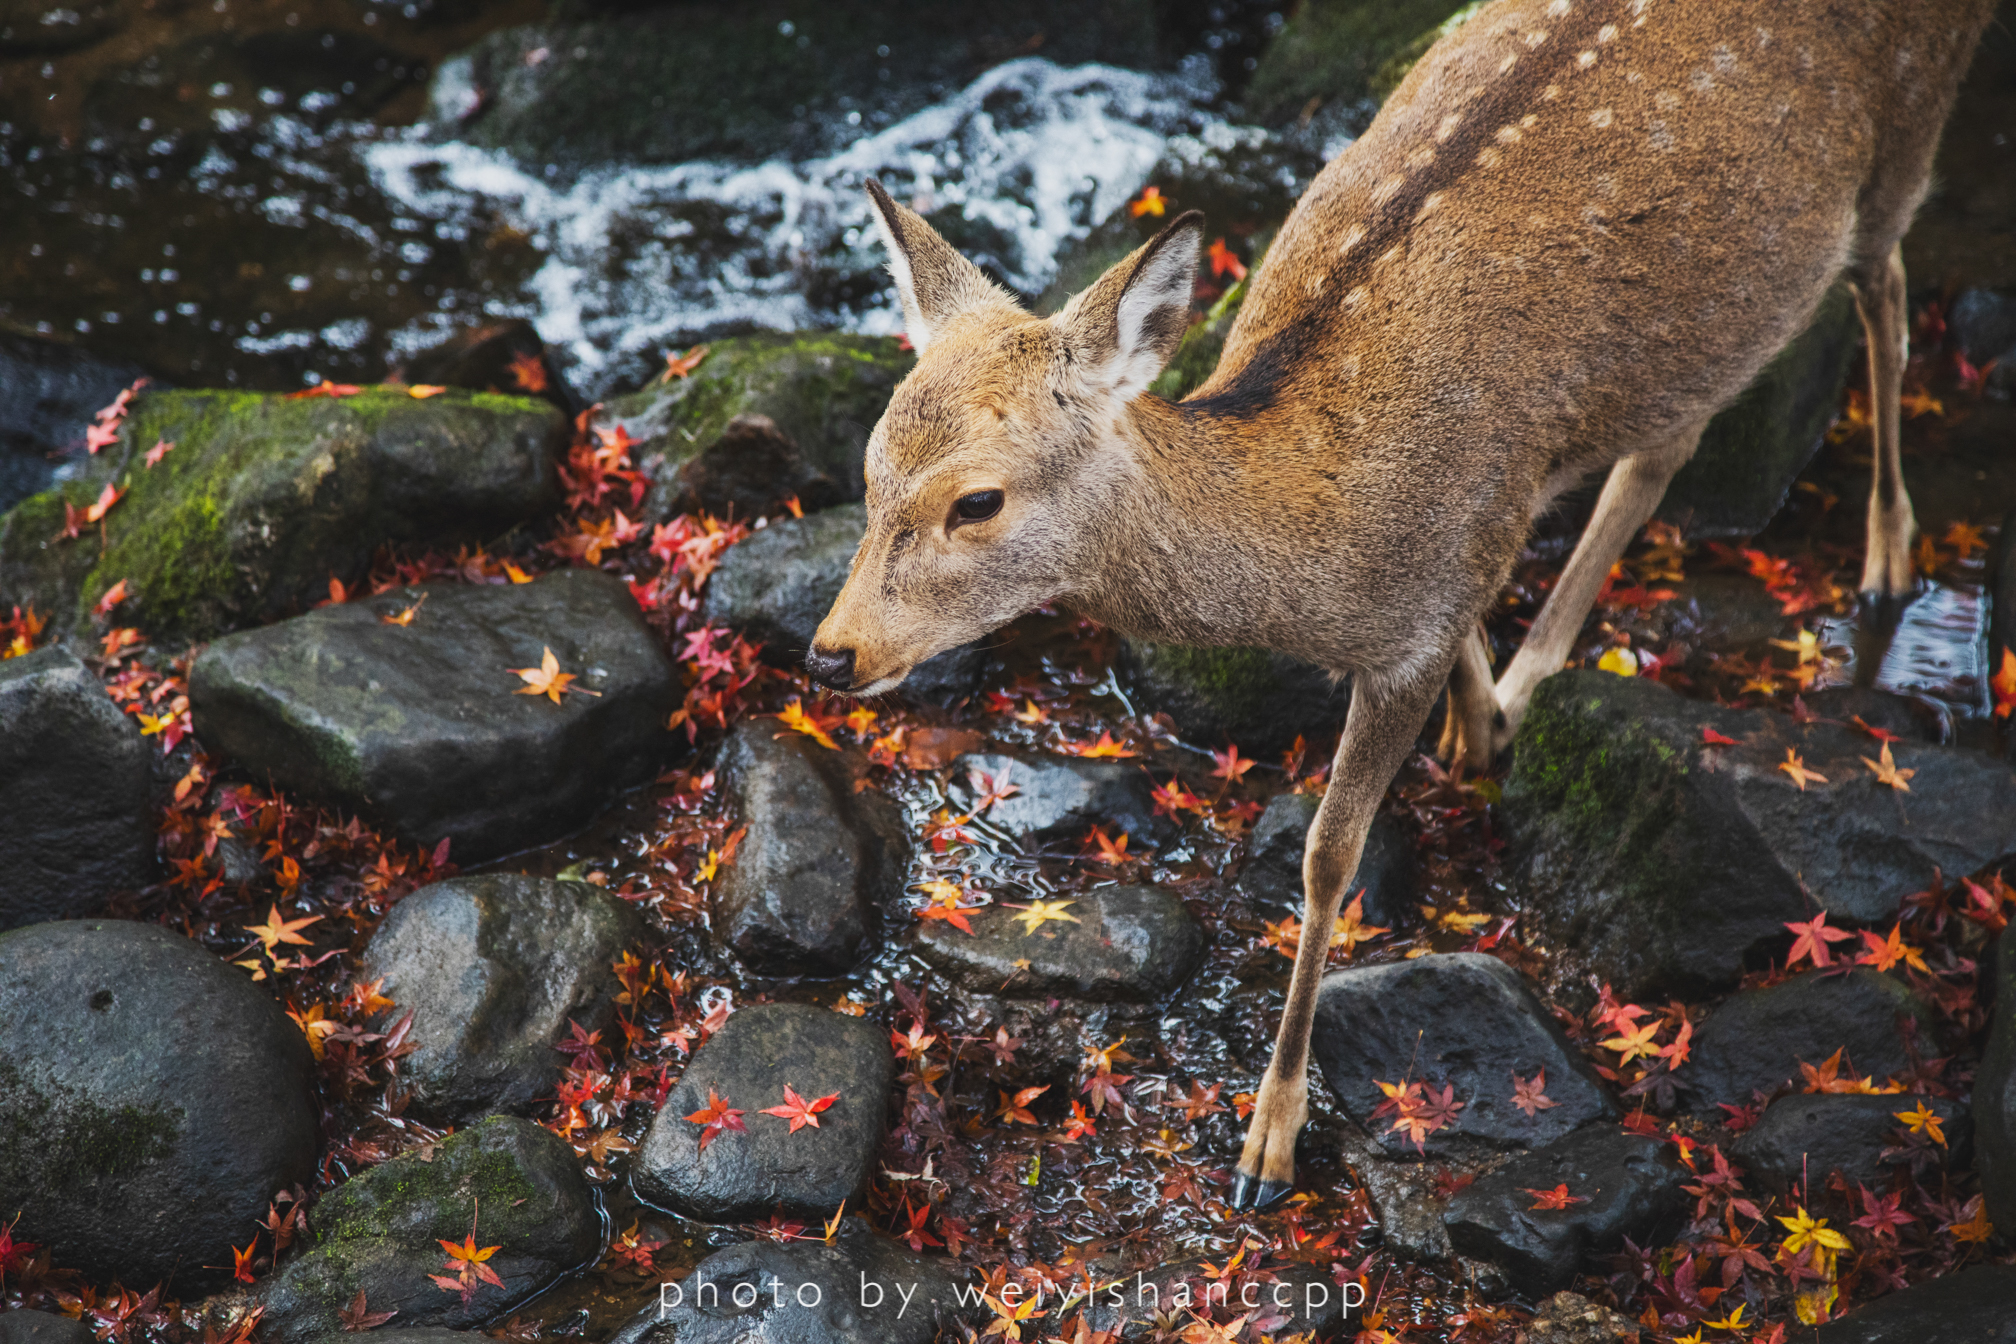
[{"label": "mossy green rock at top edge, touching the deer's back", "polygon": [[1280,125],[1312,101],[1383,99],[1464,8],[1462,0],[1304,0],[1260,54],[1246,113]]}]

